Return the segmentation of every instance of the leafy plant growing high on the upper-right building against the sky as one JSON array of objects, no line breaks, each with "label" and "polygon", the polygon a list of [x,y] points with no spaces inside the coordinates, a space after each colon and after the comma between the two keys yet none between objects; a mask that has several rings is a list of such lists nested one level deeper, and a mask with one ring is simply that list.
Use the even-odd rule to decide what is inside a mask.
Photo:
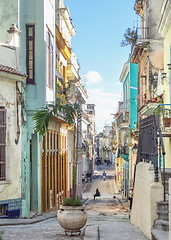
[{"label": "leafy plant growing high on the upper-right building against the sky", "polygon": [[124,39],[121,41],[121,46],[125,47],[128,45],[136,45],[137,41],[137,31],[127,28],[124,33]]}]

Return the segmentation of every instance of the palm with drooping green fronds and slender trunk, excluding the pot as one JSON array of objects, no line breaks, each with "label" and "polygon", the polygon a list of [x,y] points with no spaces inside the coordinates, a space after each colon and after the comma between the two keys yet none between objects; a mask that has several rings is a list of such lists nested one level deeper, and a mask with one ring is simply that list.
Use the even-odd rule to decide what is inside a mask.
[{"label": "palm with drooping green fronds and slender trunk, excluding the pot", "polygon": [[[42,109],[37,110],[33,120],[35,121],[35,131],[44,135],[49,124],[54,117],[62,115],[64,121],[74,126],[74,151],[73,151],[73,198],[76,199],[76,179],[77,179],[77,157],[78,157],[78,122],[81,118],[80,105],[75,102],[71,104],[65,99],[58,97],[56,103],[48,103]],[[76,131],[77,130],[77,131]]]}]

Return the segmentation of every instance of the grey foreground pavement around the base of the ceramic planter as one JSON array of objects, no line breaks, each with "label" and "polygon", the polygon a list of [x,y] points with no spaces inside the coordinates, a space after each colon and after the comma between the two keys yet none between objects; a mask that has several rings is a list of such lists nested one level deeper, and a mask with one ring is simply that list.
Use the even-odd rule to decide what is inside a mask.
[{"label": "grey foreground pavement around the base of the ceramic planter", "polygon": [[[41,222],[39,217],[39,219],[29,219],[29,221],[18,219],[20,225],[1,225],[0,230],[4,232],[2,237],[4,240],[148,240],[138,228],[129,223],[129,218],[120,215],[103,216],[89,213],[81,235],[75,233],[72,236],[71,234],[65,235],[55,215],[51,216],[52,218],[44,221],[42,216]],[[35,220],[39,221],[36,223]],[[17,223],[16,220],[13,222]]]}]

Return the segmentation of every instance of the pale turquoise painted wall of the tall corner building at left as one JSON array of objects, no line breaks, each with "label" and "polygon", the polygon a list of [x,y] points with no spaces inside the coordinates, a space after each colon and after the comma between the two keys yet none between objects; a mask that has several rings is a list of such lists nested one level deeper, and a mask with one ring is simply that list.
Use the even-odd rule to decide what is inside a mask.
[{"label": "pale turquoise painted wall of the tall corner building at left", "polygon": [[[53,1],[52,1],[53,2]],[[47,19],[45,9],[47,0],[20,1],[20,30],[21,34],[21,71],[26,73],[26,24],[35,24],[35,84],[23,84],[25,96],[26,123],[22,130],[22,216],[30,217],[30,211],[41,212],[41,159],[40,141],[34,133],[33,116],[37,109],[46,104],[47,85]],[[53,14],[46,17],[55,21]],[[49,13],[49,12],[48,12]],[[50,12],[51,13],[51,12]],[[50,25],[50,24],[49,24]],[[52,33],[55,30],[53,24]],[[53,46],[55,39],[53,41]],[[55,49],[55,48],[54,48]],[[55,54],[54,54],[55,57]],[[55,63],[55,58],[54,58]],[[55,64],[54,64],[55,67]],[[55,73],[55,71],[54,71]],[[55,78],[54,78],[55,79]],[[55,83],[54,83],[55,85]],[[55,88],[54,88],[55,89]],[[32,161],[30,162],[30,141],[32,142]]]}]

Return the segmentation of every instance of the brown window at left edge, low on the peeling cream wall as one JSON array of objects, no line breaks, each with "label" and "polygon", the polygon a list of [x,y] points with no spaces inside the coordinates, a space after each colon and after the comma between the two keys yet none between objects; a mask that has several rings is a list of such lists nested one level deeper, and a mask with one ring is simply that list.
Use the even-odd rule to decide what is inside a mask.
[{"label": "brown window at left edge, low on the peeling cream wall", "polygon": [[0,107],[0,181],[6,179],[6,110]]}]

